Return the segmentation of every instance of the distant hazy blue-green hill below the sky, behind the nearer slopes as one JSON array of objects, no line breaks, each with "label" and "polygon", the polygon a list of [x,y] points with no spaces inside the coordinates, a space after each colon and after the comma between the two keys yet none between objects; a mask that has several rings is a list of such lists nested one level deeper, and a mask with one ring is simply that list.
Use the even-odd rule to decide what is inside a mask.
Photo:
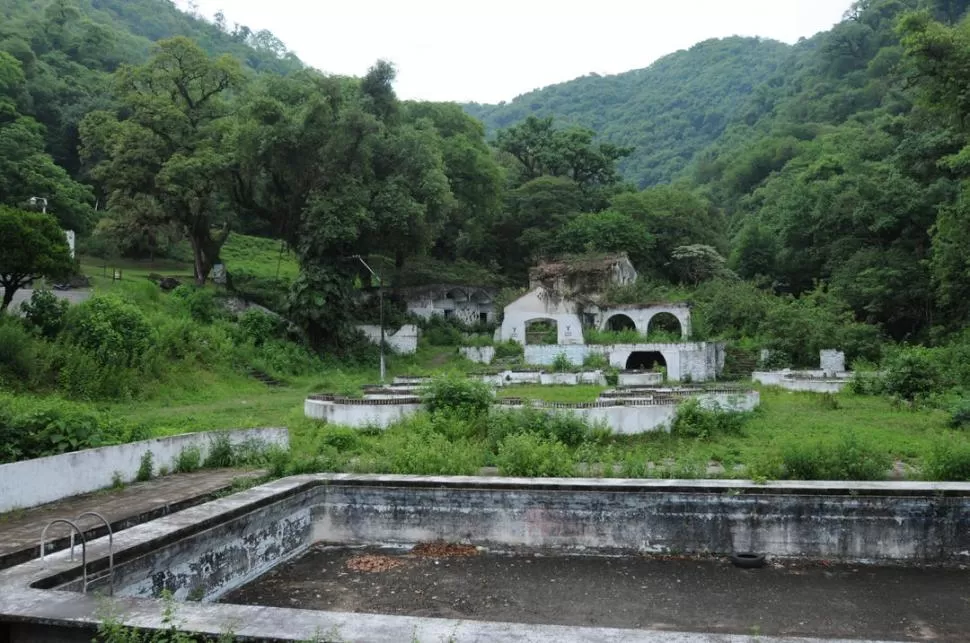
[{"label": "distant hazy blue-green hill below the sky, behind the nearer slopes", "polygon": [[555,116],[636,148],[620,164],[641,187],[669,182],[713,143],[794,48],[774,40],[708,40],[646,69],[591,75],[538,89],[510,103],[464,105],[490,133],[530,114]]}]

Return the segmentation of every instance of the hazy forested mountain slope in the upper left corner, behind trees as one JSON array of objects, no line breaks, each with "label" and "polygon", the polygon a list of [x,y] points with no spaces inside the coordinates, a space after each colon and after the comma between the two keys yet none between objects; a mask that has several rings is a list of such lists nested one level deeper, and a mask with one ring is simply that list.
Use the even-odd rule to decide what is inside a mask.
[{"label": "hazy forested mountain slope in the upper left corner, behind trees", "polygon": [[109,106],[111,73],[143,63],[153,42],[175,36],[210,55],[229,54],[253,72],[303,66],[272,33],[208,22],[171,0],[0,0],[0,52],[16,58],[25,77],[13,97],[17,111],[44,126],[47,152],[74,176],[82,172],[78,123]]}]

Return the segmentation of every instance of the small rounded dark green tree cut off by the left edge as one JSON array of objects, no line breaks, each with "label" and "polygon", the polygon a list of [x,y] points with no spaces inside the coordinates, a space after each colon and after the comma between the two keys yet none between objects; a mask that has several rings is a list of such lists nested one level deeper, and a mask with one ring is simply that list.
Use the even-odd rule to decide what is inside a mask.
[{"label": "small rounded dark green tree cut off by the left edge", "polygon": [[34,279],[63,279],[73,267],[67,237],[54,217],[0,206],[0,313]]}]

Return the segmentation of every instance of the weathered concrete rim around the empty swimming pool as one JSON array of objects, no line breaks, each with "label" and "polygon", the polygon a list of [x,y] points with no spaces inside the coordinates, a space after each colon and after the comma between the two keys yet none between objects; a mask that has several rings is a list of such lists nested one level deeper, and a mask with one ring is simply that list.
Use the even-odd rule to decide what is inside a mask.
[{"label": "weathered concrete rim around the empty swimming pool", "polygon": [[[275,506],[279,501],[291,498],[300,493],[316,493],[320,487],[331,487],[333,490],[352,491],[353,488],[370,490],[377,492],[382,489],[393,489],[395,493],[403,494],[401,497],[411,497],[413,494],[474,490],[486,492],[579,492],[594,494],[594,497],[605,497],[607,494],[642,494],[646,496],[671,496],[681,495],[702,495],[718,494],[725,499],[732,499],[745,496],[762,496],[762,501],[771,501],[774,497],[779,501],[786,497],[790,500],[791,496],[812,496],[822,498],[820,502],[826,502],[825,498],[830,498],[829,502],[838,502],[845,499],[858,499],[866,497],[882,498],[885,501],[892,501],[893,498],[900,498],[901,501],[916,498],[927,501],[937,499],[963,499],[970,498],[970,484],[966,483],[912,483],[912,482],[865,482],[865,483],[828,483],[828,482],[782,482],[770,485],[758,485],[750,481],[742,480],[618,480],[618,479],[496,479],[482,477],[439,477],[439,476],[392,476],[392,475],[353,475],[353,474],[317,474],[295,476],[276,480],[252,489],[242,491],[238,494],[221,498],[204,505],[199,505],[186,509],[178,514],[166,516],[159,520],[132,527],[119,533],[115,538],[115,552],[119,563],[124,563],[128,559],[143,556],[146,552],[154,551],[157,547],[165,543],[180,542],[183,539],[202,534],[207,530],[225,524],[227,521],[248,515],[252,512],[260,511],[262,508]],[[433,496],[430,496],[433,497]],[[888,499],[888,500],[887,500]],[[962,500],[959,500],[961,503]],[[970,504],[968,502],[967,504]],[[962,505],[961,505],[962,506]],[[316,531],[314,536],[316,536]],[[106,567],[107,542],[101,538],[89,544],[89,568],[92,571],[104,569]],[[105,605],[115,605],[120,611],[131,615],[129,622],[133,625],[143,627],[161,627],[161,603],[156,599],[95,599],[91,596],[83,596],[73,592],[52,591],[35,589],[38,583],[43,583],[45,579],[60,577],[61,581],[70,577],[79,577],[80,567],[78,562],[70,562],[67,552],[59,552],[51,555],[47,559],[47,564],[39,560],[31,561],[23,565],[3,570],[0,572],[0,640],[3,634],[8,634],[10,640],[17,639],[14,629],[23,628],[34,624],[38,626],[56,626],[60,629],[67,628],[90,628],[92,624],[98,622],[99,610]],[[55,583],[56,584],[56,583]],[[103,601],[107,601],[104,603]],[[318,623],[322,626],[321,633],[332,627],[330,623],[334,619],[343,618],[351,621],[353,628],[373,627],[365,635],[361,630],[362,640],[399,640],[402,630],[396,629],[396,636],[388,635],[385,630],[388,627],[411,627],[420,625],[421,627],[433,628],[433,631],[446,631],[444,638],[450,636],[451,626],[455,621],[443,621],[442,619],[422,619],[413,617],[392,617],[378,615],[346,615],[341,616],[331,612],[306,612],[302,610],[289,610],[282,608],[254,608],[245,606],[230,606],[222,604],[197,604],[180,603],[178,605],[180,620],[185,622],[186,628],[200,627],[197,631],[210,632],[209,629],[213,622],[219,621],[217,631],[210,632],[218,634],[227,626],[233,623],[226,620],[234,615],[243,616],[245,627],[233,631],[240,636],[267,638],[276,640],[301,640],[307,636],[312,636],[315,632],[302,630],[301,633],[294,633],[291,638],[287,633],[281,635],[279,626],[274,625],[277,618],[284,619],[284,622],[293,623]],[[273,615],[272,619],[263,623],[260,615],[267,617]],[[230,619],[231,620],[231,619]],[[255,624],[253,624],[255,622]],[[343,621],[342,621],[343,622]],[[372,625],[367,625],[371,623]],[[494,639],[494,627],[498,625],[492,623],[479,622],[460,622],[461,627],[469,628],[472,632],[492,632]],[[207,625],[208,624],[208,625]],[[408,625],[411,624],[411,625]],[[499,624],[502,625],[502,624]],[[517,624],[504,624],[509,629],[508,638],[515,640],[516,637],[522,640],[545,640],[536,638],[545,636],[537,634],[537,630],[545,626],[529,626]],[[7,632],[4,632],[6,628]],[[13,628],[13,629],[12,629]],[[256,628],[256,629],[253,629]],[[262,629],[259,629],[262,628]],[[493,628],[493,629],[489,629]],[[562,630],[574,630],[577,628],[562,628],[548,626],[548,632],[555,633],[555,639],[549,640],[569,640],[563,638]],[[580,628],[587,629],[587,628]],[[515,632],[513,632],[515,630]],[[18,630],[19,631],[19,630]],[[77,630],[81,632],[81,630]],[[430,631],[430,630],[429,630]],[[545,630],[544,630],[545,631]],[[251,633],[250,633],[251,632]],[[382,632],[385,632],[382,634]],[[620,630],[623,633],[621,639],[630,641],[651,641],[651,640],[677,640],[671,638],[651,639],[649,631]],[[346,637],[350,632],[342,633]],[[589,633],[587,633],[589,634]],[[674,633],[663,632],[664,637],[669,637]],[[90,637],[90,631],[84,632]],[[437,636],[437,635],[435,635]],[[477,636],[477,635],[476,635]],[[685,635],[687,636],[687,635]],[[690,634],[692,638],[683,640],[696,641],[742,641],[748,640],[745,637],[729,637],[726,635],[701,635]],[[482,634],[484,637],[484,634]],[[706,638],[705,638],[706,637]],[[434,638],[432,640],[438,640]],[[464,636],[461,640],[466,640]],[[469,638],[467,640],[487,640],[486,638]],[[575,639],[581,640],[581,639]],[[759,637],[759,640],[783,640]],[[793,639],[794,640],[794,639]],[[805,639],[800,639],[805,640]]]}]

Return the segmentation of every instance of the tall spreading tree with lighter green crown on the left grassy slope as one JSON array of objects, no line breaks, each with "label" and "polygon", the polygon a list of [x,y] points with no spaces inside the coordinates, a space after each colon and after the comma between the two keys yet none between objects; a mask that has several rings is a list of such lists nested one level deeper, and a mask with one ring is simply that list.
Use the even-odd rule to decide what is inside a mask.
[{"label": "tall spreading tree with lighter green crown on the left grassy slope", "polygon": [[154,202],[191,243],[200,285],[231,229],[220,202],[230,164],[226,96],[241,78],[234,59],[210,58],[187,38],[165,40],[146,64],[118,73],[127,118],[94,112],[81,125],[84,158],[109,195],[109,213],[121,216],[136,197]]}]

